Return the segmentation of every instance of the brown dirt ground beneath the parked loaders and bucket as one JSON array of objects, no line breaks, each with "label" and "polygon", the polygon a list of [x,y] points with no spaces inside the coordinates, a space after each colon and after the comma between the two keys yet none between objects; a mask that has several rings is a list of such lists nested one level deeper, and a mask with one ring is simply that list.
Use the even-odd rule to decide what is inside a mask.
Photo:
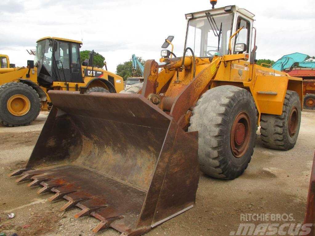
[{"label": "brown dirt ground beneath the parked loaders and bucket", "polygon": [[[35,145],[47,113],[24,127],[0,127],[0,233],[18,236],[118,236],[113,229],[93,233],[98,220],[72,208],[62,212],[66,201],[49,202],[52,193],[38,195],[40,187],[27,187],[7,177],[23,167]],[[303,111],[301,129],[295,148],[283,152],[266,149],[259,132],[252,161],[244,174],[232,181],[200,175],[196,205],[191,210],[154,228],[152,235],[230,235],[237,231],[241,214],[293,214],[293,223],[303,222],[312,158],[315,150],[315,111]],[[14,213],[13,219],[6,214]],[[254,222],[259,224],[263,221]],[[270,222],[267,222],[270,223]],[[278,221],[277,223],[285,223]]]}]

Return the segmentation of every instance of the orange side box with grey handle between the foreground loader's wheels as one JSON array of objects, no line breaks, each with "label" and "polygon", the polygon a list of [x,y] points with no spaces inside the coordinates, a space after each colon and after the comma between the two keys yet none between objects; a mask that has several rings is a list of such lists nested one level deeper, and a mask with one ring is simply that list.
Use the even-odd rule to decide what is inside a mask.
[{"label": "orange side box with grey handle between the foreground loader's wheels", "polygon": [[257,76],[253,96],[261,113],[282,114],[287,85],[287,76]]}]

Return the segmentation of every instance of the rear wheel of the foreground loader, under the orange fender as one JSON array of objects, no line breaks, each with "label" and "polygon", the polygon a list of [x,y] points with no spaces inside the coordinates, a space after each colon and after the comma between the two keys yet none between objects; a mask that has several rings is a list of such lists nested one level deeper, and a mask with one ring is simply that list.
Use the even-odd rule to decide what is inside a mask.
[{"label": "rear wheel of the foreground loader, under the orange fender", "polygon": [[301,124],[299,95],[287,90],[281,115],[261,114],[260,133],[264,146],[287,151],[296,143]]}]

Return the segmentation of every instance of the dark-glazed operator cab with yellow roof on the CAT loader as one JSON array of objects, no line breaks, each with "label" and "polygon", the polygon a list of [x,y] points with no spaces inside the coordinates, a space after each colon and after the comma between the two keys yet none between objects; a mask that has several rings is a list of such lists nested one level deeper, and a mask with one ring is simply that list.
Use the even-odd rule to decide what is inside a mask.
[{"label": "dark-glazed operator cab with yellow roof on the CAT loader", "polygon": [[82,83],[80,51],[82,42],[45,37],[37,41],[35,61],[41,84],[54,81]]}]

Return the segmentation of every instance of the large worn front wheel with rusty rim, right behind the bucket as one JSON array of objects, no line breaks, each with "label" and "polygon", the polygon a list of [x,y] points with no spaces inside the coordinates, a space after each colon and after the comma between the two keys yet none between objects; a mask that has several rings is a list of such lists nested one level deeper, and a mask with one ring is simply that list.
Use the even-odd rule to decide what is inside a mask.
[{"label": "large worn front wheel with rusty rim, right behind the bucket", "polygon": [[198,159],[205,174],[234,179],[254,152],[257,110],[245,89],[225,85],[205,92],[192,110],[188,131],[198,131]]}]

